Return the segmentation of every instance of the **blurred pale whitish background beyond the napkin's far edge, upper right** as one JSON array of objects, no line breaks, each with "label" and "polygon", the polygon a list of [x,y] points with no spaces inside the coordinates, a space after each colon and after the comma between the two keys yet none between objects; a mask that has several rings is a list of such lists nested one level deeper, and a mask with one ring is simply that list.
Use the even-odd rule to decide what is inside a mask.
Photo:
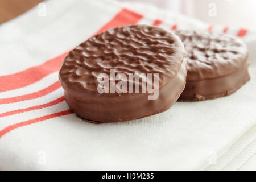
[{"label": "blurred pale whitish background beyond the napkin's far edge, upper right", "polygon": [[209,24],[223,24],[256,29],[255,0],[118,0],[151,3],[163,10],[201,19]]}]

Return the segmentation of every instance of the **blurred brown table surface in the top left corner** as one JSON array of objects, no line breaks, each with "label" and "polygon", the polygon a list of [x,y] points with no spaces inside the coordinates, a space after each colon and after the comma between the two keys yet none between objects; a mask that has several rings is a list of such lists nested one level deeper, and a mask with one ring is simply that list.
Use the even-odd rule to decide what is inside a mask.
[{"label": "blurred brown table surface in the top left corner", "polygon": [[0,24],[26,12],[43,0],[0,0]]}]

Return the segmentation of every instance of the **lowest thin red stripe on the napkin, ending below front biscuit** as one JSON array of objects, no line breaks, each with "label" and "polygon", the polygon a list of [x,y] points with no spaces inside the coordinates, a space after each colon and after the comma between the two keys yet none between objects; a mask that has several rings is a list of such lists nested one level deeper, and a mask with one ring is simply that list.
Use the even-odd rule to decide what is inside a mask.
[{"label": "lowest thin red stripe on the napkin, ending below front biscuit", "polygon": [[27,120],[27,121],[16,123],[16,124],[11,125],[11,126],[7,126],[7,127],[5,127],[5,129],[0,131],[0,138],[3,135],[5,135],[6,133],[10,132],[11,130],[17,129],[19,127],[26,126],[26,125],[31,125],[33,123],[45,121],[47,119],[56,118],[56,117],[60,117],[61,115],[67,115],[67,114],[71,114],[71,113],[72,113],[71,110],[64,110],[64,111],[61,111],[59,113],[53,113],[53,114],[49,114],[49,115],[44,115],[43,117],[39,117],[39,118],[35,118],[35,119],[30,119],[30,120]]}]

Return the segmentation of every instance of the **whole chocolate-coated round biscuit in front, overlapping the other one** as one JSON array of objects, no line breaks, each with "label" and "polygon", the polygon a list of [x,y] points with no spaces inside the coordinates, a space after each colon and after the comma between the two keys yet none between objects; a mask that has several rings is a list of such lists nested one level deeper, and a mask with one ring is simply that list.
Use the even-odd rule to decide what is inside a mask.
[{"label": "whole chocolate-coated round biscuit in front, overlapping the other one", "polygon": [[[172,32],[146,25],[118,27],[70,51],[59,80],[70,109],[85,121],[129,121],[166,111],[176,102],[187,76],[184,55],[183,44]],[[150,98],[155,93],[148,86],[158,97]]]}]

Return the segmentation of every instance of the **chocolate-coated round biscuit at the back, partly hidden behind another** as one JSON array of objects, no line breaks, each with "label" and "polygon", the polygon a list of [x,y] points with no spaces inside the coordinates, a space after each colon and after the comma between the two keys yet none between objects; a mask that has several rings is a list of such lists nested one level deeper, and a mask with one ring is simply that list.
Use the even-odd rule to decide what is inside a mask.
[{"label": "chocolate-coated round biscuit at the back, partly hidden behind another", "polygon": [[248,51],[241,39],[209,31],[175,32],[185,46],[187,83],[180,101],[227,96],[250,80]]}]

